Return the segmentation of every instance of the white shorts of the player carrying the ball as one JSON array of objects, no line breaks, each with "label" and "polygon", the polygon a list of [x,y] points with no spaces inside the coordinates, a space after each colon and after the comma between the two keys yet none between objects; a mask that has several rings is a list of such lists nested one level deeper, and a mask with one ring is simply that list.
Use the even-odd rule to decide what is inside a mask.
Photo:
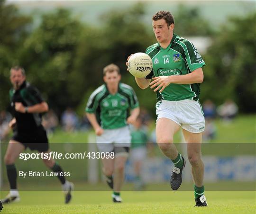
[{"label": "white shorts of the player carrying the ball", "polygon": [[161,100],[156,103],[157,120],[168,118],[191,133],[204,131],[205,122],[201,105],[198,101],[184,99],[179,101]]}]

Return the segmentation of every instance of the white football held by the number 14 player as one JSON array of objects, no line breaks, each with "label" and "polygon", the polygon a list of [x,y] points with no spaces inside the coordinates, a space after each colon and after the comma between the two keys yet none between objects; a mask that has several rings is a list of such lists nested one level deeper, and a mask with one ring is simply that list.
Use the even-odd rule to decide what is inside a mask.
[{"label": "white football held by the number 14 player", "polygon": [[145,53],[133,54],[128,60],[128,71],[135,77],[146,77],[152,70],[152,60]]}]

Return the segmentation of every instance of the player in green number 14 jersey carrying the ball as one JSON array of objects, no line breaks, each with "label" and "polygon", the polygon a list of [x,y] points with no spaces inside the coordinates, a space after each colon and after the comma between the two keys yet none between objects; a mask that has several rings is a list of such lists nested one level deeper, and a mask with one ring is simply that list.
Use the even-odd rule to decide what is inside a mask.
[{"label": "player in green number 14 jersey carrying the ball", "polygon": [[152,20],[157,43],[149,46],[146,54],[152,58],[153,70],[145,78],[135,80],[141,89],[150,86],[157,93],[156,140],[165,156],[174,162],[172,189],[180,187],[185,167],[185,160],[173,143],[174,134],[182,127],[192,165],[196,206],[207,206],[201,160],[205,122],[198,101],[205,62],[189,40],[174,34],[174,17],[170,12],[159,11]]}]

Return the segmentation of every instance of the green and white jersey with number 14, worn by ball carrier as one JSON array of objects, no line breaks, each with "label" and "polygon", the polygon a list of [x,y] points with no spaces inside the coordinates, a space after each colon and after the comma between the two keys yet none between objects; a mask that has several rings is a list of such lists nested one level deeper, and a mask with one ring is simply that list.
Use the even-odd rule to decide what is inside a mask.
[{"label": "green and white jersey with number 14, worn by ball carrier", "polygon": [[[205,65],[195,46],[187,39],[174,34],[170,45],[162,48],[159,43],[146,49],[153,62],[153,70],[146,79],[158,76],[185,75]],[[198,100],[200,83],[170,84],[163,92],[157,91],[157,99],[177,101]]]}]

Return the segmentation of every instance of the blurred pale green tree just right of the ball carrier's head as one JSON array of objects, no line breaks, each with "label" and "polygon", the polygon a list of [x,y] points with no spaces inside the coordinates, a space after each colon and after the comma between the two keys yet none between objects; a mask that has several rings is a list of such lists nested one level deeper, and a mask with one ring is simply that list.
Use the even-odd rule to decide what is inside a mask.
[{"label": "blurred pale green tree just right of the ball carrier's head", "polygon": [[206,20],[200,9],[180,4],[174,16],[174,32],[180,36],[211,36],[214,34],[210,22]]}]

